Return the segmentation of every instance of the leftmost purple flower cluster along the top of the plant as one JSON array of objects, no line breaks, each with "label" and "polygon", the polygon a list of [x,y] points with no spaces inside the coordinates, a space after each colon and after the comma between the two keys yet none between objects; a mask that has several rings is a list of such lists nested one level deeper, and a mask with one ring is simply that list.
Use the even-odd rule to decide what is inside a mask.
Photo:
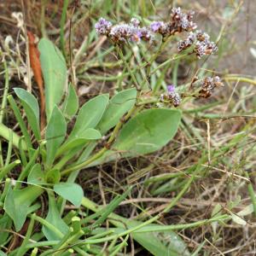
[{"label": "leftmost purple flower cluster along the top of the plant", "polygon": [[132,18],[129,24],[117,24],[114,26],[111,22],[101,18],[95,27],[99,35],[108,36],[115,43],[124,43],[127,41],[140,42],[142,39],[145,41],[152,40],[153,35],[148,28],[139,25],[140,21],[136,18]]}]

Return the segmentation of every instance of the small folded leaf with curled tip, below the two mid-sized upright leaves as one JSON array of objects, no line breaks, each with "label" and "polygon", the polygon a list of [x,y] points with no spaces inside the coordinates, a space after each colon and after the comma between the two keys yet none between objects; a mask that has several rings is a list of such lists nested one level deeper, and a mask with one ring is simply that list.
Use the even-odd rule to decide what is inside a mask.
[{"label": "small folded leaf with curled tip, below the two mid-sized upright leaves", "polygon": [[79,138],[74,138],[71,141],[64,143],[61,148],[59,148],[58,152],[57,152],[57,156],[63,153],[67,153],[69,150],[73,149],[73,148],[77,148],[79,146],[83,146],[84,148],[84,144],[89,142],[89,141],[93,141],[93,140],[98,140],[102,138],[102,134],[100,133],[100,131],[97,131],[95,129],[89,128],[85,131],[83,131],[83,133],[80,134]]}]

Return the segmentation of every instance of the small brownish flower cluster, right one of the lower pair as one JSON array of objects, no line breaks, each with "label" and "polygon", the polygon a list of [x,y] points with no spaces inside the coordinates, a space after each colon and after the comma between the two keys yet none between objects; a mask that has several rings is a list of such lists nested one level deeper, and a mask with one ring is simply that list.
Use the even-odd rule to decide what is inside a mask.
[{"label": "small brownish flower cluster, right one of the lower pair", "polygon": [[213,90],[216,87],[224,86],[218,76],[207,77],[201,81],[201,90],[199,91],[199,96],[203,98],[208,98],[212,95]]}]

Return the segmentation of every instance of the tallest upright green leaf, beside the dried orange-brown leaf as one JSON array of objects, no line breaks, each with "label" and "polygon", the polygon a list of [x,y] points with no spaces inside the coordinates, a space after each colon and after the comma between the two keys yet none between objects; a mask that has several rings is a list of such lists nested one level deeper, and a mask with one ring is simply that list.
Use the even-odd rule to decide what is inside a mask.
[{"label": "tallest upright green leaf, beside the dried orange-brown leaf", "polygon": [[44,76],[46,116],[49,120],[55,105],[61,102],[64,94],[67,83],[67,67],[61,51],[48,39],[42,38],[38,49]]}]

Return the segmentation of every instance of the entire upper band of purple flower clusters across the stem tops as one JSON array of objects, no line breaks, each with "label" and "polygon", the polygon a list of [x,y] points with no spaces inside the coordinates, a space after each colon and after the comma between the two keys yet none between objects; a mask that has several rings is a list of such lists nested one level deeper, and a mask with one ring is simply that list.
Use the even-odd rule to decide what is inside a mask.
[{"label": "entire upper band of purple flower clusters across the stem tops", "polygon": [[132,18],[130,23],[121,23],[113,25],[110,21],[101,18],[96,22],[95,28],[99,35],[111,38],[114,43],[121,44],[127,41],[139,43],[141,40],[154,41],[154,34],[159,33],[163,37],[169,37],[175,33],[189,32],[188,38],[181,40],[177,44],[178,51],[188,49],[194,45],[193,51],[200,59],[203,55],[211,55],[218,50],[214,42],[210,41],[207,33],[196,31],[193,22],[193,11],[182,12],[178,8],[172,9],[171,19],[169,22],[153,21],[150,26],[140,26],[140,20]]}]

